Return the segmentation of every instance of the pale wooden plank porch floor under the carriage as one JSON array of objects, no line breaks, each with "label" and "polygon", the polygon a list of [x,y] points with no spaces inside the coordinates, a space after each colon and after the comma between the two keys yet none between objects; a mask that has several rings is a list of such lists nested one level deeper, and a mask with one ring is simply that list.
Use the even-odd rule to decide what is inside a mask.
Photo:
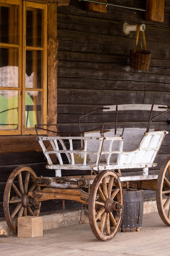
[{"label": "pale wooden plank porch floor under the carriage", "polygon": [[[90,225],[51,229],[37,238],[0,238],[3,256],[170,256],[170,227],[163,224],[158,212],[143,215],[140,232],[118,232],[107,242],[93,235]],[[19,249],[18,249],[19,248]]]}]

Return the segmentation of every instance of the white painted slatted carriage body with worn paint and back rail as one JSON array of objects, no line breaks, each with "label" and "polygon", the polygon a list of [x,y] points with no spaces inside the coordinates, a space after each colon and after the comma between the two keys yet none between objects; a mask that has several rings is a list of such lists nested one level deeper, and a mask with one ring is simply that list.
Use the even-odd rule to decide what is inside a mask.
[{"label": "white painted slatted carriage body with worn paint and back rail", "polygon": [[[152,105],[117,106],[120,110],[124,110],[124,106],[125,110],[149,110]],[[116,107],[105,106],[104,111],[108,108],[114,111]],[[153,110],[160,111],[160,106],[154,105]],[[116,135],[115,129],[109,129],[102,135],[99,131],[91,131],[79,137],[38,136],[38,141],[48,162],[46,168],[57,170],[59,176],[61,169],[102,171],[131,168],[142,168],[143,175],[148,175],[148,168],[157,165],[154,161],[167,133],[165,130],[146,132],[143,128],[125,128],[123,136],[122,129],[117,129]],[[44,141],[49,141],[53,150],[48,150]],[[78,149],[74,147],[75,141],[76,145],[79,141]],[[57,156],[57,164],[53,164],[52,154]]]}]

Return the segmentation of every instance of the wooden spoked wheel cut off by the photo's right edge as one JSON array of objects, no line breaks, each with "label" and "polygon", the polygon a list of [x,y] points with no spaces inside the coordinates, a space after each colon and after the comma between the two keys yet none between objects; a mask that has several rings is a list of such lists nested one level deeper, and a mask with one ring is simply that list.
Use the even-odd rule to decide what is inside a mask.
[{"label": "wooden spoked wheel cut off by the photo's right edge", "polygon": [[161,220],[170,226],[170,157],[163,162],[159,171],[156,200]]}]

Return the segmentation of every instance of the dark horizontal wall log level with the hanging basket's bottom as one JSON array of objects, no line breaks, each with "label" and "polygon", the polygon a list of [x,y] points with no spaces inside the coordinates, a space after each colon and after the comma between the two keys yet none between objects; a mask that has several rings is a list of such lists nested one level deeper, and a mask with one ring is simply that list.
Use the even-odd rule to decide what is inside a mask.
[{"label": "dark horizontal wall log level with the hanging basket's bottom", "polygon": [[[64,64],[64,63],[63,63]],[[65,63],[67,65],[67,63]],[[137,71],[134,74],[134,70],[130,67],[130,66],[119,66],[117,65],[117,67],[114,67],[115,64],[112,65],[104,65],[104,64],[99,64],[99,65],[94,65],[94,64],[90,64],[87,65],[87,68],[84,68],[84,64],[83,63],[79,63],[79,68],[75,68],[72,64],[72,67],[66,67],[66,65],[62,65],[61,67],[59,67],[58,69],[58,77],[62,77],[62,79],[65,78],[73,78],[76,79],[93,79],[93,81],[95,81],[95,83],[100,83],[100,80],[104,80],[105,83],[107,84],[107,81],[112,81],[112,83],[115,83],[115,81],[120,81],[122,83],[124,83],[124,81],[128,81],[128,83],[130,83],[132,81],[136,81],[137,83],[137,79],[139,79],[139,82],[143,82],[143,86],[142,86],[142,90],[144,90],[144,86],[145,86],[145,81],[150,82],[150,83],[157,83],[157,87],[159,87],[160,89],[160,84],[166,84],[167,88],[168,88],[168,83],[170,83],[170,78],[168,77],[168,70],[160,68],[159,72],[160,74],[163,74],[163,77],[160,76],[160,74],[156,74],[155,69],[152,70],[152,72],[148,72],[147,76],[144,76],[144,72],[142,71]],[[70,63],[68,64],[70,65]],[[152,84],[153,85],[153,84]],[[60,87],[60,85],[59,85]],[[154,89],[156,90],[157,87]],[[119,87],[118,87],[119,88]],[[118,89],[117,88],[117,89]],[[102,88],[101,88],[102,89]],[[114,88],[113,88],[114,89]],[[111,90],[111,88],[110,88]]]}]

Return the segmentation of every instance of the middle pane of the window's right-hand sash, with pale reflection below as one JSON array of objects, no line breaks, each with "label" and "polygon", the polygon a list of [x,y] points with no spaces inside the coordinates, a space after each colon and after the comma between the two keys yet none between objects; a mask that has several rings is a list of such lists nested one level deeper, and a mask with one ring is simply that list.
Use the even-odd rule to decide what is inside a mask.
[{"label": "middle pane of the window's right-hand sash, with pale reflection below", "polygon": [[42,51],[26,51],[26,88],[42,88]]}]

